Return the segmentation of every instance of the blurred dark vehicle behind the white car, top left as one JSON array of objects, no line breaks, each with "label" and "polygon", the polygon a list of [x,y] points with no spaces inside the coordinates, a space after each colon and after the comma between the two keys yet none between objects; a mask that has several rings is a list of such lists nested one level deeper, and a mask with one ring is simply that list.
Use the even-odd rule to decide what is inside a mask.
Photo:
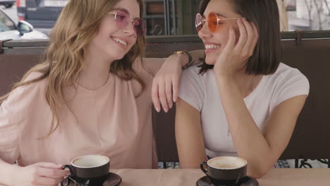
[{"label": "blurred dark vehicle behind the white car, top left", "polygon": [[54,27],[59,14],[68,0],[16,0],[18,19],[33,27]]}]

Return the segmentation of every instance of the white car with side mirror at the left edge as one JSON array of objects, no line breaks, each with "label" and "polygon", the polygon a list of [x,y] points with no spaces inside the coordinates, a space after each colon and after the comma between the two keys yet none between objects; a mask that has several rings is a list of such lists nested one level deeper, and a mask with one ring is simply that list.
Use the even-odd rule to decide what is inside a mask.
[{"label": "white car with side mirror at the left edge", "polygon": [[0,9],[0,40],[3,39],[48,39],[48,36],[34,30],[32,25],[24,20],[20,20],[16,25],[13,20]]}]

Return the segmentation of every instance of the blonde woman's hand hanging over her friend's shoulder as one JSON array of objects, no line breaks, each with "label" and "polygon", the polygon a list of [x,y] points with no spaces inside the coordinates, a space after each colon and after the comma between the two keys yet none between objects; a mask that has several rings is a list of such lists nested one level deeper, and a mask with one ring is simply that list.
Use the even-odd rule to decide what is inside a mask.
[{"label": "blonde woman's hand hanging over her friend's shoulder", "polygon": [[[181,76],[181,61],[176,55],[169,56],[152,81],[152,101],[157,112],[161,107],[167,113],[178,98],[178,84]],[[173,94],[172,94],[173,92]]]}]

